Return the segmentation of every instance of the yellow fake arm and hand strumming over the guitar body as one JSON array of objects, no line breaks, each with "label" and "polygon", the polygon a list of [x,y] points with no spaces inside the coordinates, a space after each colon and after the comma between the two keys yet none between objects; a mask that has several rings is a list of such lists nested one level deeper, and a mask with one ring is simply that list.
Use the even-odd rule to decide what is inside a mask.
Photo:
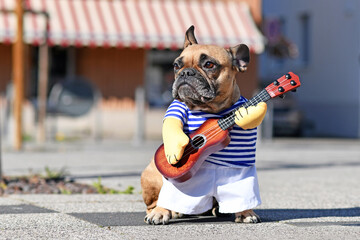
[{"label": "yellow fake arm and hand strumming over the guitar body", "polygon": [[182,157],[189,137],[183,132],[180,119],[166,118],[162,128],[165,156],[170,164],[176,164]]}]

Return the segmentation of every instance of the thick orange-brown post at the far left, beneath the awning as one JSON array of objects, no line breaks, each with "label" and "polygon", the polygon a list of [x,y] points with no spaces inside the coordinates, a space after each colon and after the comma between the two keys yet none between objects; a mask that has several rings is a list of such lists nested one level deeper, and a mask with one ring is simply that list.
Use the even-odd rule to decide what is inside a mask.
[{"label": "thick orange-brown post at the far left, beneath the awning", "polygon": [[16,20],[17,31],[16,40],[13,45],[13,81],[14,81],[14,120],[15,120],[15,138],[14,148],[22,148],[22,106],[24,101],[24,41],[23,41],[23,2],[16,0]]}]

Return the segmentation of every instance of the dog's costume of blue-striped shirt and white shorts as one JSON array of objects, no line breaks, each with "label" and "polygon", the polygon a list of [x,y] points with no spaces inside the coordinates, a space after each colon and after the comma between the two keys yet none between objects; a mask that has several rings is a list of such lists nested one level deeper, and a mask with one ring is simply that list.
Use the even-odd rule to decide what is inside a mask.
[{"label": "dog's costume of blue-striped shirt and white shorts", "polygon": [[[167,109],[164,124],[169,119],[172,119],[170,121],[176,119],[180,121],[182,131],[189,134],[199,128],[207,119],[224,117],[246,101],[244,97],[240,97],[230,108],[213,114],[192,111],[185,103],[174,100]],[[258,106],[258,108],[265,108],[263,112],[266,112],[266,105]],[[254,109],[250,107],[245,113],[245,109],[242,108],[236,114],[241,114],[241,111],[243,114],[247,114],[248,111],[254,111]],[[262,118],[263,116],[261,116],[261,120]],[[258,119],[247,121],[247,127],[254,127],[261,123]],[[238,119],[236,123],[244,126],[244,123],[240,123]],[[178,134],[174,134],[173,128],[180,125],[170,126],[172,134],[168,141],[178,137]],[[164,128],[163,134],[166,137],[166,125]],[[183,137],[181,134],[179,135],[180,138]],[[229,145],[225,149],[211,154],[199,171],[186,182],[172,182],[163,178],[157,205],[184,214],[199,214],[212,208],[213,197],[218,201],[221,213],[240,212],[261,204],[254,165],[257,128],[245,130],[234,125],[230,131],[230,137]],[[164,139],[164,141],[166,140]]]}]

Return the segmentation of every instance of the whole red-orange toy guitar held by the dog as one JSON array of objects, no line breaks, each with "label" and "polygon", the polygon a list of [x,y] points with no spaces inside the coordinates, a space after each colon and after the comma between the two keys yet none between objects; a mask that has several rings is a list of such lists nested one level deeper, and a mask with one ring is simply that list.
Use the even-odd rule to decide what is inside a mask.
[{"label": "whole red-orange toy guitar held by the dog", "polygon": [[[295,91],[300,85],[299,77],[289,72],[240,107],[256,106],[271,98],[283,97],[284,93]],[[220,119],[208,119],[196,131],[189,134],[190,142],[186,146],[182,158],[174,165],[168,163],[164,144],[162,144],[154,156],[159,172],[165,178],[176,182],[185,182],[191,178],[210,154],[220,151],[230,143],[229,130],[235,124],[236,111],[237,109]]]}]

